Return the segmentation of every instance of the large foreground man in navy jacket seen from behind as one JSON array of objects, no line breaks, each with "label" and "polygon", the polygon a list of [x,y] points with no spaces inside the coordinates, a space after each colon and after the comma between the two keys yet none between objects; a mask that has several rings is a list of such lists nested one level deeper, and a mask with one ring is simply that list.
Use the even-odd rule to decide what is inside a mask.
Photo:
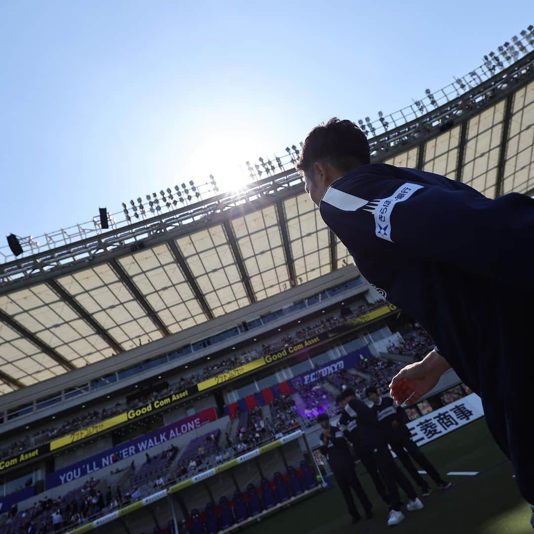
[{"label": "large foreground man in navy jacket seen from behind", "polygon": [[481,396],[490,431],[533,504],[534,200],[491,200],[444,176],[371,164],[364,133],[348,120],[314,128],[296,167],[363,276],[437,343],[395,376],[391,396],[413,404],[452,367]]}]

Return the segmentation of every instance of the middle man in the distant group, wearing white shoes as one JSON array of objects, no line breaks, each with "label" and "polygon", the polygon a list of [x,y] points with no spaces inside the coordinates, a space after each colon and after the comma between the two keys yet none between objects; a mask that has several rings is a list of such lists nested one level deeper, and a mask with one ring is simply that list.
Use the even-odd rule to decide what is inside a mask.
[{"label": "middle man in the distant group, wearing white shoes", "polygon": [[356,398],[352,388],[346,388],[341,394],[340,406],[351,418],[349,439],[357,443],[367,453],[372,453],[380,476],[388,491],[389,518],[388,525],[396,525],[403,521],[404,514],[400,511],[400,496],[397,484],[407,493],[409,502],[406,509],[410,512],[424,507],[415,489],[404,473],[396,466],[389,452],[386,440],[376,415],[370,407]]}]

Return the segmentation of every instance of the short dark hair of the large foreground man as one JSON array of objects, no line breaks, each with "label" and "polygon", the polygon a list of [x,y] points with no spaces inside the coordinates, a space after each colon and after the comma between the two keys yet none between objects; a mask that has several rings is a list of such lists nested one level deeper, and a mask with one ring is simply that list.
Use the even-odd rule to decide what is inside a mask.
[{"label": "short dark hair of the large foreground man", "polygon": [[295,168],[304,174],[313,163],[330,163],[341,172],[371,163],[371,152],[365,133],[347,119],[332,117],[308,134]]}]

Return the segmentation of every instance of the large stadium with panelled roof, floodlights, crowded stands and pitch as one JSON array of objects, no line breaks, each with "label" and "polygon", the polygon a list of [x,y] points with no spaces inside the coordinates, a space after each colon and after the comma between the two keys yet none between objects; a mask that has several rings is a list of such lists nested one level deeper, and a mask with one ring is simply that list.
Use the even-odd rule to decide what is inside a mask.
[{"label": "large stadium with panelled roof, floodlights, crowded stands and pitch", "polygon": [[[372,161],[532,197],[533,30],[442,90],[357,121]],[[322,221],[301,150],[247,162],[238,192],[185,180],[0,248],[0,534],[388,529],[380,501],[350,524],[317,416],[335,420],[347,387],[366,403],[369,386],[387,395],[434,342]],[[405,411],[451,486],[433,486],[398,532],[531,531],[456,373]]]}]

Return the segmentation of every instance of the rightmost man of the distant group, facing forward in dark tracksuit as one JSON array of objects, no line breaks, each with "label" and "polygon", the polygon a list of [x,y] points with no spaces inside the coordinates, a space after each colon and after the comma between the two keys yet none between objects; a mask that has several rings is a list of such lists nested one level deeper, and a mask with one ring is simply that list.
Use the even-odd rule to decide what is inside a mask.
[{"label": "rightmost man of the distant group, facing forward in dark tracksuit", "polygon": [[423,497],[428,497],[432,490],[428,482],[419,474],[410,457],[427,472],[439,489],[450,488],[451,483],[443,480],[430,460],[421,452],[417,443],[412,441],[410,430],[406,427],[407,416],[395,400],[391,397],[380,397],[378,390],[374,387],[367,388],[365,396],[373,403],[371,409],[380,423],[384,437],[404,468],[421,488]]}]

